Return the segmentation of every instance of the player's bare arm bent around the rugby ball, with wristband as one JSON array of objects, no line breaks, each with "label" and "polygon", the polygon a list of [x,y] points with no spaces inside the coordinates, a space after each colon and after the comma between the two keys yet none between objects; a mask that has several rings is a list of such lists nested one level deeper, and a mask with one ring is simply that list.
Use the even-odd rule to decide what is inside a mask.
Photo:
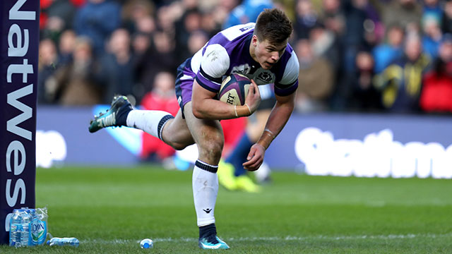
[{"label": "player's bare arm bent around the rugby ball, with wristband", "polygon": [[199,85],[194,80],[193,95],[191,97],[193,114],[198,119],[233,119],[241,116],[249,116],[258,107],[261,95],[258,87],[253,80],[251,80],[248,96],[246,97],[247,105],[232,106],[218,99],[214,99],[216,92],[211,92]]}]

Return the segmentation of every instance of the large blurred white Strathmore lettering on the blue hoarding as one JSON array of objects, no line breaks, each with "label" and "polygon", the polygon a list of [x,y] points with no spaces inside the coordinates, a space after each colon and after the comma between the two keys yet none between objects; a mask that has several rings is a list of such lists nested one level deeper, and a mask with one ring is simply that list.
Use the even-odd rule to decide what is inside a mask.
[{"label": "large blurred white Strathmore lettering on the blue hoarding", "polygon": [[311,175],[452,178],[452,145],[404,145],[393,140],[390,129],[364,140],[335,140],[331,132],[304,128],[295,140],[295,154]]}]

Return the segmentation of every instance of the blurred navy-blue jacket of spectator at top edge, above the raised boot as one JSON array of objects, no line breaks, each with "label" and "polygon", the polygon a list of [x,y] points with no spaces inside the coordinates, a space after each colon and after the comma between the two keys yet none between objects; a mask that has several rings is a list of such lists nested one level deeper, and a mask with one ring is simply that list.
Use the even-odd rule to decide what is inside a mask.
[{"label": "blurred navy-blue jacket of spectator at top edge, above the raised boot", "polygon": [[74,18],[73,28],[77,35],[86,36],[93,42],[95,56],[102,55],[105,41],[121,23],[121,8],[113,0],[88,0]]}]

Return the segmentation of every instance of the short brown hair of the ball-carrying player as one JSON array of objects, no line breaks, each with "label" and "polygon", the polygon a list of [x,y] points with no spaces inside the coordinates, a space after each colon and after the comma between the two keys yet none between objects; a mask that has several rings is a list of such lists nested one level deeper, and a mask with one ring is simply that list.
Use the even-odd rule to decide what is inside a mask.
[{"label": "short brown hair of the ball-carrying player", "polygon": [[258,40],[270,43],[283,43],[292,34],[292,21],[284,11],[278,8],[267,8],[259,14],[254,27],[254,35]]}]

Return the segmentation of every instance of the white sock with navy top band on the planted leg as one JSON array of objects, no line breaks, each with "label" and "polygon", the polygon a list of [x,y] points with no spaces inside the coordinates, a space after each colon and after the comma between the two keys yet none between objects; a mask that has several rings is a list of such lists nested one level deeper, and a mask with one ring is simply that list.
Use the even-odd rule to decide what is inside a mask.
[{"label": "white sock with navy top band on the planted leg", "polygon": [[193,198],[198,226],[215,223],[215,201],[218,194],[218,166],[196,161],[193,170]]}]

